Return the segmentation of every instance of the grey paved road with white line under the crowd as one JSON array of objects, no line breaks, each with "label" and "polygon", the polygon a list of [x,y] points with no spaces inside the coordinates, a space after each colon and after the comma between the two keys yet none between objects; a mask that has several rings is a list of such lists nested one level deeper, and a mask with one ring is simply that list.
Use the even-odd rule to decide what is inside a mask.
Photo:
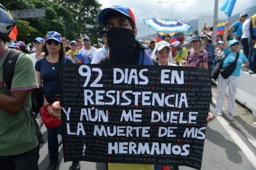
[{"label": "grey paved road with white line under the crowd", "polygon": [[[212,86],[213,103],[210,112],[215,112],[216,87]],[[202,170],[256,170],[256,118],[250,110],[236,103],[237,118],[227,112],[227,98],[224,102],[224,115],[215,114],[215,119],[206,131]],[[46,138],[47,131],[41,128]],[[64,163],[62,145],[59,147],[58,170],[68,170],[71,162]],[[39,169],[47,170],[49,164],[47,143],[41,146]],[[105,170],[105,164],[81,162],[81,170]],[[192,170],[180,167],[180,170]]]}]

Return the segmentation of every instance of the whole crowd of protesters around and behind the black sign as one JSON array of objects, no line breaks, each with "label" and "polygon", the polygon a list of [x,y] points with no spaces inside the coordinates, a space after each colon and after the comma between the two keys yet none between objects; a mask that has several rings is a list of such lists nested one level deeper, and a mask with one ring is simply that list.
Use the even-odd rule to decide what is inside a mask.
[{"label": "whole crowd of protesters around and behind the black sign", "polygon": [[[0,14],[10,17],[1,4]],[[30,100],[29,92],[39,86],[44,88],[44,106],[41,108],[42,120],[38,120],[38,124],[42,125],[44,122],[47,127],[50,160],[48,170],[56,169],[58,145],[62,140],[61,121],[59,120],[61,106],[56,98],[59,91],[59,63],[102,63],[104,61],[105,64],[153,65],[155,59],[160,66],[193,66],[208,69],[209,82],[211,82],[210,75],[216,63],[224,58],[223,66],[225,66],[233,62],[238,54],[236,70],[232,75],[227,79],[223,78],[221,74],[218,76],[215,107],[217,114],[222,115],[223,97],[227,86],[229,86],[228,112],[236,117],[234,96],[241,67],[249,66],[250,74],[256,72],[256,48],[253,47],[256,40],[256,34],[253,32],[253,27],[256,26],[256,14],[250,19],[246,20],[246,18],[247,14],[242,13],[240,20],[232,26],[228,27],[229,22],[226,22],[223,40],[221,37],[217,37],[217,42],[212,42],[212,27],[204,26],[201,35],[190,33],[186,41],[183,36],[179,36],[177,41],[170,43],[170,35],[165,34],[160,42],[144,43],[144,41],[136,40],[137,27],[131,9],[122,5],[111,6],[108,9],[103,9],[98,15],[98,22],[104,25],[100,32],[103,42],[100,48],[92,46],[88,36],[70,41],[55,31],[47,32],[45,37],[35,37],[28,46],[23,41],[18,41],[9,43],[7,47],[3,45],[3,39],[7,38],[11,32],[13,20],[7,22],[9,24],[7,25],[9,27],[6,27],[6,29],[9,28],[7,31],[0,27],[0,61],[3,64],[2,61],[10,49],[21,51],[22,57],[19,57],[15,70],[17,72],[22,70],[23,76],[16,74],[10,88],[3,81],[0,82],[1,87],[4,87],[0,88],[0,112],[4,115],[3,119],[0,119],[0,140],[6,142],[6,145],[0,146],[0,169],[12,170],[18,166],[24,167],[20,168],[21,170],[38,170],[39,145],[33,130],[34,127],[29,120],[26,120],[23,103],[26,99]],[[6,24],[1,18],[0,23]],[[228,32],[234,40],[227,40]],[[240,52],[241,49],[243,52]],[[1,79],[3,78],[1,77]],[[211,96],[209,101],[212,101]],[[12,109],[11,106],[15,106],[15,108]],[[15,117],[17,115],[18,118]],[[46,124],[47,117],[55,118],[54,122]],[[209,113],[207,123],[212,119],[213,114]],[[3,124],[4,126],[2,126]],[[26,135],[23,136],[24,134]],[[8,164],[6,164],[7,161]],[[131,167],[138,167],[140,170],[161,169],[159,165],[107,164],[109,170],[129,170]],[[179,169],[176,165],[172,165],[170,168]],[[70,170],[79,169],[79,162],[73,161]]]}]

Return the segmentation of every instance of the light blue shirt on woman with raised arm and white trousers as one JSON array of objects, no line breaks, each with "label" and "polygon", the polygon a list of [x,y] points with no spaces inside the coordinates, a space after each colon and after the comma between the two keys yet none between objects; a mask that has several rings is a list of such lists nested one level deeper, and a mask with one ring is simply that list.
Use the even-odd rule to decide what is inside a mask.
[{"label": "light blue shirt on woman with raised arm and white trousers", "polygon": [[[227,48],[224,50],[224,55],[226,56],[227,53],[230,52],[230,49]],[[230,52],[227,57],[224,59],[223,61],[223,67],[227,66],[228,63],[232,63],[233,61],[236,60],[236,54],[233,52]],[[242,68],[242,64],[247,62],[247,58],[244,55],[244,53],[239,52],[239,58],[237,59],[237,63],[236,63],[236,69],[234,70],[234,72],[231,74],[233,76],[239,76],[240,75],[240,70]]]}]

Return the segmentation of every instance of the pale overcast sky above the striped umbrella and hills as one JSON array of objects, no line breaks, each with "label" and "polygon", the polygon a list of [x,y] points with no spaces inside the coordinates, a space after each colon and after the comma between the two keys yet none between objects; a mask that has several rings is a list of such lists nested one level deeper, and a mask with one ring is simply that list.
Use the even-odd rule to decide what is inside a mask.
[{"label": "pale overcast sky above the striped umbrella and hills", "polygon": [[[172,17],[183,22],[189,22],[199,17],[213,17],[214,0],[98,0],[102,8],[108,8],[113,4],[127,5],[135,15],[138,30],[137,37],[154,34],[157,32],[145,25],[143,19],[163,17],[171,18],[171,6],[173,5]],[[158,3],[159,1],[166,3]],[[178,3],[185,1],[184,3]],[[218,0],[218,19],[226,20],[227,16],[220,11],[220,6],[225,0]],[[240,14],[251,6],[256,5],[256,0],[236,0],[232,15]]]}]

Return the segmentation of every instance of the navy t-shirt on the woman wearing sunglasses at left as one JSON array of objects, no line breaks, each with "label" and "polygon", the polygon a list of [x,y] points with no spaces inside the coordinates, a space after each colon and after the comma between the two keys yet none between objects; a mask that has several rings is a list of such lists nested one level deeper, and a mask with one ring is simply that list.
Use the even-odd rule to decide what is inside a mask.
[{"label": "navy t-shirt on the woman wearing sunglasses at left", "polygon": [[[73,61],[63,57],[61,63],[73,63]],[[52,69],[52,67],[55,67],[55,69]],[[44,82],[44,95],[49,103],[54,102],[54,96],[59,94],[57,68],[58,63],[49,63],[46,57],[39,58],[35,63],[35,70],[40,72],[41,79]]]}]

